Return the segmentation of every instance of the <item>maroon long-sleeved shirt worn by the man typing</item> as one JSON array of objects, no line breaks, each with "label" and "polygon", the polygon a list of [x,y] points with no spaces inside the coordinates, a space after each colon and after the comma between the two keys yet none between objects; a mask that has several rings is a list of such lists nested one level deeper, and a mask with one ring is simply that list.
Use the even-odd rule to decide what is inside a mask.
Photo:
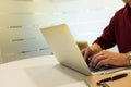
[{"label": "maroon long-sleeved shirt worn by the man typing", "polygon": [[128,4],[116,12],[102,36],[94,42],[103,49],[117,45],[120,53],[131,51],[131,8]]}]

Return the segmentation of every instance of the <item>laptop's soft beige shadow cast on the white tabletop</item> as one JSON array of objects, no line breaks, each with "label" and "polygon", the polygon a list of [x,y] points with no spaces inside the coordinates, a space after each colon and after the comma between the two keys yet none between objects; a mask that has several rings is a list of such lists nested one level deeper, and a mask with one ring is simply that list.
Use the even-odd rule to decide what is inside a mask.
[{"label": "laptop's soft beige shadow cast on the white tabletop", "polygon": [[36,87],[67,87],[69,84],[84,82],[85,75],[61,64],[25,69]]}]

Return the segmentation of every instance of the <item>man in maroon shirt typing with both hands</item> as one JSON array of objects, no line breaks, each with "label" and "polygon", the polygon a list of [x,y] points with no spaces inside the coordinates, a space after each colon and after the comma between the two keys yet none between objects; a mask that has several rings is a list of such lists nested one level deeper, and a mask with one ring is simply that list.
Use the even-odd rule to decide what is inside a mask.
[{"label": "man in maroon shirt typing with both hands", "polygon": [[[109,25],[91,47],[82,49],[82,54],[90,65],[98,69],[102,65],[131,65],[131,0],[122,0],[126,5],[116,12]],[[107,51],[118,46],[119,53]]]}]

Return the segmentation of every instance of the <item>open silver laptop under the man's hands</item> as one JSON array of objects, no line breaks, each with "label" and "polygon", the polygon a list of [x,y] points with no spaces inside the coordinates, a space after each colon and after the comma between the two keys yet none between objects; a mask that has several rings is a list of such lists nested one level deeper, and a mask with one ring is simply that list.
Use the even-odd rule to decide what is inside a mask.
[{"label": "open silver laptop under the man's hands", "polygon": [[120,67],[92,72],[67,24],[55,25],[41,28],[40,30],[57,60],[64,66],[75,70],[84,75],[107,74],[123,70],[123,67]]}]

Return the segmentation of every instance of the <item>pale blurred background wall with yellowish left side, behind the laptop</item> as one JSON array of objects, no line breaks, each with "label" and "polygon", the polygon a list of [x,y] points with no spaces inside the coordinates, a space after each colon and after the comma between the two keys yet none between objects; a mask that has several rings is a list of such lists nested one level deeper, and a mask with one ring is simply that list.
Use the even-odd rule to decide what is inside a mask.
[{"label": "pale blurred background wall with yellowish left side, behind the laptop", "polygon": [[75,40],[91,45],[121,7],[121,0],[1,0],[2,61],[50,54],[39,28],[61,23],[69,25]]}]

